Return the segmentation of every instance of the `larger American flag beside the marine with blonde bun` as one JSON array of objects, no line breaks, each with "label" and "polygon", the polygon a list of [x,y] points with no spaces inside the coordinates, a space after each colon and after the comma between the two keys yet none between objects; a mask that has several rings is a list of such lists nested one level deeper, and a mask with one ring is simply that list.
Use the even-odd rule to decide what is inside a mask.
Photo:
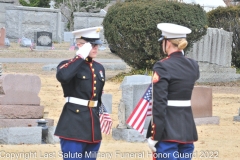
[{"label": "larger American flag beside the marine with blonde bun", "polygon": [[147,116],[152,115],[152,84],[150,84],[133,112],[127,119],[127,124],[141,134]]}]

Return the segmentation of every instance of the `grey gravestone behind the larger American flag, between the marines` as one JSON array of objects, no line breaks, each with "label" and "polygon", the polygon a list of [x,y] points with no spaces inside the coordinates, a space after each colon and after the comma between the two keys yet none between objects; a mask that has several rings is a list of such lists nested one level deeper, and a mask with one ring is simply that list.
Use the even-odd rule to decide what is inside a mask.
[{"label": "grey gravestone behind the larger American flag, between the marines", "polygon": [[151,117],[147,117],[144,124],[143,135],[132,127],[126,124],[127,118],[132,113],[138,101],[142,98],[151,83],[151,76],[133,75],[126,76],[120,85],[122,89],[122,99],[118,107],[118,120],[117,128],[112,129],[112,136],[116,140],[126,140],[131,142],[145,141],[145,134]]}]

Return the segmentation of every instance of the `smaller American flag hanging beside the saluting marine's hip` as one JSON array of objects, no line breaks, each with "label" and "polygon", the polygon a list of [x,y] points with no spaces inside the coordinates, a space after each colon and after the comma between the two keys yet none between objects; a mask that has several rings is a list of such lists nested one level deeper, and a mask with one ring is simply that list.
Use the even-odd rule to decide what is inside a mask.
[{"label": "smaller American flag hanging beside the saluting marine's hip", "polygon": [[110,134],[113,122],[103,104],[101,104],[101,106],[99,107],[99,117],[100,117],[101,132],[105,134]]}]

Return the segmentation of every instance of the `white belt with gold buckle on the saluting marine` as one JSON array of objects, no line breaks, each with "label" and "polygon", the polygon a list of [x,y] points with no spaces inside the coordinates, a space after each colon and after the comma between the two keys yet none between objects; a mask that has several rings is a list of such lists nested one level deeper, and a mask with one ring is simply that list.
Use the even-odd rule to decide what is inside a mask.
[{"label": "white belt with gold buckle on the saluting marine", "polygon": [[88,107],[97,107],[98,101],[92,101],[92,100],[85,100],[75,97],[66,97],[66,102],[79,104],[82,106],[88,106]]}]

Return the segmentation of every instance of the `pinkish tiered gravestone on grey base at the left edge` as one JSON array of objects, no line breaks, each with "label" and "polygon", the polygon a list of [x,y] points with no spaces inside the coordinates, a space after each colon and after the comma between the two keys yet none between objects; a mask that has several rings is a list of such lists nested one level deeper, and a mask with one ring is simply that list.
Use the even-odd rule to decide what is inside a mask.
[{"label": "pinkish tiered gravestone on grey base at the left edge", "polygon": [[[41,80],[35,75],[0,76],[0,144],[39,144],[44,107],[38,97]],[[46,119],[53,126],[53,119]]]}]

